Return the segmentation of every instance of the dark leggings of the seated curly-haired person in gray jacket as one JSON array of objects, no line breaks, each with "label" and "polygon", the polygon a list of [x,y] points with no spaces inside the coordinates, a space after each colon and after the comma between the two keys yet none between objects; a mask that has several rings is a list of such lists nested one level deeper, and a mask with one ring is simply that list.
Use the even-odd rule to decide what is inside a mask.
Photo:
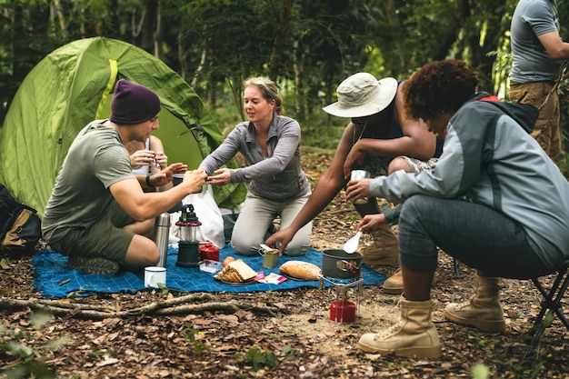
[{"label": "dark leggings of the seated curly-haired person in gray jacket", "polygon": [[414,195],[399,217],[401,265],[433,272],[436,246],[487,276],[528,279],[551,272],[530,247],[524,228],[508,216],[464,200]]}]

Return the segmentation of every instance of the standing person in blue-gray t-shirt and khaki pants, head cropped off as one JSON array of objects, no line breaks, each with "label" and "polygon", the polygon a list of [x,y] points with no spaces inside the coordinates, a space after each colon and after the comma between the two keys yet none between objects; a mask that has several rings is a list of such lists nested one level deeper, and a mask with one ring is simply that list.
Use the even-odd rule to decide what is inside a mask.
[{"label": "standing person in blue-gray t-shirt and khaki pants, head cropped off", "polygon": [[512,17],[510,39],[510,100],[539,109],[532,136],[554,158],[562,153],[556,82],[562,61],[569,59],[569,43],[559,35],[556,1],[521,0]]}]

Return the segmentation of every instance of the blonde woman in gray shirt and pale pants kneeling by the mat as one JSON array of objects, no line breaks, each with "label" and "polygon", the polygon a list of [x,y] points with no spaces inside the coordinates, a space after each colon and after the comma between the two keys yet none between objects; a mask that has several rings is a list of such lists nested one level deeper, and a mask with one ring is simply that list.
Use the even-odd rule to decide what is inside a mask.
[{"label": "blonde woman in gray shirt and pale pants kneeling by the mat", "polygon": [[[248,121],[235,125],[222,145],[208,155],[203,168],[211,185],[248,182],[248,194],[234,226],[231,244],[237,254],[257,254],[273,220],[287,227],[311,194],[300,162],[300,125],[283,114],[283,98],[275,82],[255,77],[245,82],[244,108]],[[248,166],[220,168],[237,152]],[[302,255],[310,247],[312,223],[288,244],[284,254]]]}]

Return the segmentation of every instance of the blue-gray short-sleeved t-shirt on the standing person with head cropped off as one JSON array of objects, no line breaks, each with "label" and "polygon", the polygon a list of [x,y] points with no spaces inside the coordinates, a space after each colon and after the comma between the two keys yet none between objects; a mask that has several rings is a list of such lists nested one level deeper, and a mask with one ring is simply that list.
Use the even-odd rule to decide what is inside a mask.
[{"label": "blue-gray short-sleeved t-shirt on the standing person with head cropped off", "polygon": [[517,83],[554,81],[561,61],[555,61],[538,35],[559,31],[555,0],[520,0],[512,16],[511,45],[514,62],[510,79]]}]

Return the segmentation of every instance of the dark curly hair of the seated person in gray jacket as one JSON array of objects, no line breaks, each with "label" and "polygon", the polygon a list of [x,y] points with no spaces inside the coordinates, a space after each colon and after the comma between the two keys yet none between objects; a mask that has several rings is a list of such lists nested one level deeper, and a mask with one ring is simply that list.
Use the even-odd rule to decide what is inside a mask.
[{"label": "dark curly hair of the seated person in gray jacket", "polygon": [[449,59],[428,63],[404,82],[405,112],[429,120],[445,111],[455,112],[474,95],[478,77],[463,61]]}]

